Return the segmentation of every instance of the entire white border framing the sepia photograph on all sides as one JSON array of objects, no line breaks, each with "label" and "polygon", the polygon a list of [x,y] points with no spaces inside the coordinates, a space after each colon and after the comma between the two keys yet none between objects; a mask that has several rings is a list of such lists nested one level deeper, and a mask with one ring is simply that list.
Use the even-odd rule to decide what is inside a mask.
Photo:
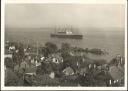
[{"label": "entire white border framing the sepia photograph on all sides", "polygon": [[[97,2],[98,1],[98,2]],[[2,0],[1,3],[1,90],[127,90],[127,1],[126,0]],[[120,1],[120,2],[118,2]],[[4,11],[5,3],[83,3],[125,4],[125,86],[124,87],[5,87],[4,86]]]}]

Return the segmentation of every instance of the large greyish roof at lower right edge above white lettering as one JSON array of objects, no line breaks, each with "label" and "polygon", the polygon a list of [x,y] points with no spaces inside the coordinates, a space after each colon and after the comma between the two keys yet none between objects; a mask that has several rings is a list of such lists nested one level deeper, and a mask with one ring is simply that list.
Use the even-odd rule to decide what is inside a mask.
[{"label": "large greyish roof at lower right edge above white lettering", "polygon": [[116,66],[110,67],[109,74],[111,75],[113,80],[120,80],[124,77],[124,73]]}]

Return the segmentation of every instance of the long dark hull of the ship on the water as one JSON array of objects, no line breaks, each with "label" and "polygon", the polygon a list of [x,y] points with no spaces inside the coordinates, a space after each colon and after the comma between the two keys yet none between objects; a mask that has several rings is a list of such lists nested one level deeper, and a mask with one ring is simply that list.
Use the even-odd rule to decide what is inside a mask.
[{"label": "long dark hull of the ship on the water", "polygon": [[82,35],[65,35],[65,34],[51,34],[51,37],[57,37],[57,38],[70,38],[70,39],[82,39],[83,36]]}]

